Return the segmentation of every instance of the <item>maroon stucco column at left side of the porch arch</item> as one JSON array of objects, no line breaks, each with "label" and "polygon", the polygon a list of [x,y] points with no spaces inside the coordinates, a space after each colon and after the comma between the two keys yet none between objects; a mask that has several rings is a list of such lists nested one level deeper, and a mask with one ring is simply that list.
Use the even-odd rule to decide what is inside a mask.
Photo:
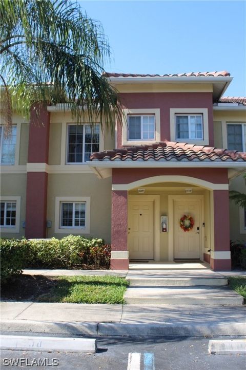
[{"label": "maroon stucco column at left side of the porch arch", "polygon": [[[112,191],[112,252],[127,251],[128,192]],[[113,253],[112,253],[113,254]],[[111,258],[112,270],[128,270],[129,258]]]}]

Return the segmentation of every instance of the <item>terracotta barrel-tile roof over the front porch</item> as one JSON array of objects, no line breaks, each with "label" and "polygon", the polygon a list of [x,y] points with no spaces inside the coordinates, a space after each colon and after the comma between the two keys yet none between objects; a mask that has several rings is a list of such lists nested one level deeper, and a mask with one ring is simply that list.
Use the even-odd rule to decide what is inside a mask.
[{"label": "terracotta barrel-tile roof over the front porch", "polygon": [[91,161],[246,161],[246,153],[172,141],[93,153]]}]

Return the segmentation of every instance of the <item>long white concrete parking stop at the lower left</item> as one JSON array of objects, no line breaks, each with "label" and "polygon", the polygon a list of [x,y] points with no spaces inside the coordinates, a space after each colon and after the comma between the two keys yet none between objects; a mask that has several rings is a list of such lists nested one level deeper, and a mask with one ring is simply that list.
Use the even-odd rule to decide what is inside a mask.
[{"label": "long white concrete parking stop at the lower left", "polygon": [[1,335],[1,349],[96,352],[96,339]]}]

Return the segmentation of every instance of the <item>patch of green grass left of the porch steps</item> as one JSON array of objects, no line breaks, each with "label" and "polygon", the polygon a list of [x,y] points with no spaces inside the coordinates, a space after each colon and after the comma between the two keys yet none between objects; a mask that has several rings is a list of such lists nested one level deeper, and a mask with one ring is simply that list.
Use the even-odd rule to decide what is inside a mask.
[{"label": "patch of green grass left of the porch steps", "polygon": [[56,282],[38,302],[121,304],[129,285],[117,276],[57,276]]}]

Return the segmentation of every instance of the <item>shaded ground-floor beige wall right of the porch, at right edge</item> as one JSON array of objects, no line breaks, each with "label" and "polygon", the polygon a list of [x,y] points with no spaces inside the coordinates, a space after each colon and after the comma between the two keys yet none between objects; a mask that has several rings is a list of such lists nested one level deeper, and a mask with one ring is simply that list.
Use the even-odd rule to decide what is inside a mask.
[{"label": "shaded ground-floor beige wall right of the porch, at right edge", "polygon": [[[245,178],[238,176],[230,181],[229,189],[246,194]],[[230,201],[230,239],[234,242],[240,241],[246,243],[246,233],[240,233],[239,207],[232,200]]]}]

